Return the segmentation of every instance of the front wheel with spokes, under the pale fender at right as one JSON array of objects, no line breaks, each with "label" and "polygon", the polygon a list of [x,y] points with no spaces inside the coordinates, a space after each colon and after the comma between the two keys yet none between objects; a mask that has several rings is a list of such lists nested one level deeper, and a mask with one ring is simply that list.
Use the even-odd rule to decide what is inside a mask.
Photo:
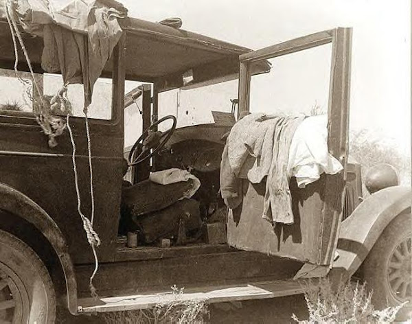
[{"label": "front wheel with spokes, under the pale fender at right", "polygon": [[412,310],[411,214],[397,216],[382,232],[363,263],[363,279],[373,290],[371,302],[382,310],[409,301],[396,320],[410,318]]}]

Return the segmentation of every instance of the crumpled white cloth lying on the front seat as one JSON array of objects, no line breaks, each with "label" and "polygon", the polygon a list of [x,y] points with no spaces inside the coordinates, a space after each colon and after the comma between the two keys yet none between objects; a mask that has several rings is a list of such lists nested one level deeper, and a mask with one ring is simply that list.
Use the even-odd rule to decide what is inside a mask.
[{"label": "crumpled white cloth lying on the front seat", "polygon": [[196,178],[193,174],[190,174],[187,170],[181,170],[173,167],[168,170],[161,170],[158,172],[150,173],[149,180],[154,183],[159,183],[159,185],[170,185],[171,183],[178,183],[182,181],[188,181],[192,179],[194,185],[187,192],[185,192],[183,198],[191,198],[196,194],[197,190],[201,187],[201,181]]}]

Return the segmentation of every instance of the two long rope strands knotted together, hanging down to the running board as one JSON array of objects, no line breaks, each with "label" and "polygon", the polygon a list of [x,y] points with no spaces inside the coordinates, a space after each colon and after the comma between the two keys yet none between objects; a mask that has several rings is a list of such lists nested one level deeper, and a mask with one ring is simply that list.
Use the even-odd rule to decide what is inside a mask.
[{"label": "two long rope strands knotted together, hanging down to the running board", "polygon": [[[87,234],[87,241],[89,242],[91,249],[93,251],[93,256],[95,258],[95,269],[90,277],[89,280],[89,288],[91,291],[91,296],[93,298],[98,298],[98,294],[96,292],[95,287],[93,286],[93,279],[96,275],[96,273],[98,273],[98,268],[99,268],[99,261],[98,261],[98,255],[96,253],[96,247],[99,246],[101,244],[100,238],[98,233],[96,233],[93,229],[93,220],[90,221],[89,218],[87,218],[86,216],[84,216],[84,214],[82,213],[81,210],[81,200],[80,200],[80,189],[79,189],[79,183],[78,183],[78,172],[77,172],[77,166],[76,166],[76,143],[74,142],[74,137],[73,137],[73,132],[71,130],[70,124],[69,124],[69,114],[67,114],[66,117],[66,125],[67,125],[67,130],[69,130],[69,135],[70,135],[70,141],[71,141],[71,146],[73,147],[73,153],[71,154],[71,161],[73,162],[73,173],[74,173],[74,183],[76,186],[76,194],[77,194],[77,198],[78,198],[78,213],[80,215],[80,218],[82,218],[83,221],[83,228],[84,231],[86,231]],[[87,125],[87,141],[88,143],[90,143],[90,135],[89,135],[89,126],[88,123],[86,122]],[[90,145],[89,145],[90,148]],[[89,149],[89,162],[91,161],[91,150]],[[90,170],[91,170],[91,164],[90,164]],[[94,213],[94,199],[93,199],[93,178],[92,178],[92,174],[91,174],[91,205],[92,205],[92,217],[93,217],[93,213]]]}]

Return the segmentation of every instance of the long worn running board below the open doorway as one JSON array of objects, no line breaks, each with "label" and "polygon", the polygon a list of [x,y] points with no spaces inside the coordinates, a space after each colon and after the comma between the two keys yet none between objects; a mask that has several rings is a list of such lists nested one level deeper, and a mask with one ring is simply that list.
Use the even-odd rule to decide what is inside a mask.
[{"label": "long worn running board below the open doorway", "polygon": [[78,313],[93,314],[100,312],[119,312],[125,310],[141,310],[153,308],[162,303],[198,300],[206,303],[222,303],[225,301],[245,301],[251,299],[268,299],[275,297],[303,294],[304,289],[297,281],[271,281],[264,283],[244,284],[238,286],[215,286],[190,288],[183,294],[161,292],[152,294],[136,294],[124,297],[107,297],[93,300],[78,300]]}]

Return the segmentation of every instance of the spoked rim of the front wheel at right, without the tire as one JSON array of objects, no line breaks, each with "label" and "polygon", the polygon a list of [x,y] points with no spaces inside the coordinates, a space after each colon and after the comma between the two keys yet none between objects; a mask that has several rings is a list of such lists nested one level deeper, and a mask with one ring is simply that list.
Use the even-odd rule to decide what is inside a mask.
[{"label": "spoked rim of the front wheel at right, without the tire", "polygon": [[400,302],[411,300],[411,272],[411,238],[407,238],[393,249],[388,264],[389,290]]}]

